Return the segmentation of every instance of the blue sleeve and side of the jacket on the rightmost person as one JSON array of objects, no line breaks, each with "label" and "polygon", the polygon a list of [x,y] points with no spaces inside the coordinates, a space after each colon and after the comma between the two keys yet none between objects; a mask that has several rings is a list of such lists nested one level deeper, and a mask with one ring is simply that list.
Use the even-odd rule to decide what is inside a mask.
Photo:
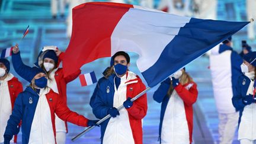
[{"label": "blue sleeve and side of the jacket on the rightmost person", "polygon": [[236,111],[239,111],[239,120],[238,123],[241,121],[242,112],[244,111],[245,104],[243,103],[243,98],[247,95],[247,90],[249,88],[249,84],[251,80],[245,76],[241,75],[238,78],[238,82],[235,88],[235,93],[232,97],[233,106],[236,108]]}]

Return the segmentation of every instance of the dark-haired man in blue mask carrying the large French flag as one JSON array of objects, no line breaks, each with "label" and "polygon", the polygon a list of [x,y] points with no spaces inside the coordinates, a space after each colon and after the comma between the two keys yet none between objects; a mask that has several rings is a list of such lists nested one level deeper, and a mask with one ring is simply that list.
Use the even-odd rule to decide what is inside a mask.
[{"label": "dark-haired man in blue mask carrying the large French flag", "polygon": [[[135,73],[129,71],[130,57],[117,52],[111,57],[110,68],[98,81],[90,105],[98,119],[110,114],[111,118],[101,123],[101,143],[142,144],[142,119],[148,109],[146,94],[131,101],[145,90],[145,85]],[[117,107],[124,105],[120,111]]]}]

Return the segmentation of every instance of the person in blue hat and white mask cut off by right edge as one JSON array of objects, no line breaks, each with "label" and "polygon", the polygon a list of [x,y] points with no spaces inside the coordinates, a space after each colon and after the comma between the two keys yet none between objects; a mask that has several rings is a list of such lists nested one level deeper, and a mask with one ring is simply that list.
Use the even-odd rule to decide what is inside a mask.
[{"label": "person in blue hat and white mask cut off by right edge", "polygon": [[256,52],[244,56],[241,65],[244,75],[239,76],[232,102],[239,110],[238,140],[241,144],[256,143]]}]

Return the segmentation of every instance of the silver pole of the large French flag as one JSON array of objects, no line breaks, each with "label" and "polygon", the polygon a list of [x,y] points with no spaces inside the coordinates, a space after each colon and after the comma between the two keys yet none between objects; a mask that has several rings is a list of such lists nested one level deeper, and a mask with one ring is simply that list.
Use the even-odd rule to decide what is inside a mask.
[{"label": "silver pole of the large French flag", "polygon": [[[138,95],[136,95],[136,97],[133,97],[131,101],[135,101],[137,100],[139,97],[141,97],[143,94],[145,94],[147,91],[149,91],[149,89],[151,89],[151,87],[146,88],[144,91],[140,92]],[[122,108],[124,108],[123,105],[121,105],[120,107],[117,108],[117,110],[121,110]],[[103,121],[109,119],[111,116],[110,114],[108,114],[107,116],[105,116],[103,119],[101,119],[100,121],[97,122],[97,124],[101,124]],[[79,137],[81,137],[82,135],[85,135],[85,133],[88,133],[90,130],[92,130],[95,126],[89,126],[87,129],[85,129],[83,132],[79,133],[78,135],[76,135],[75,137],[73,137],[72,141],[74,142],[76,139],[78,139]]]}]

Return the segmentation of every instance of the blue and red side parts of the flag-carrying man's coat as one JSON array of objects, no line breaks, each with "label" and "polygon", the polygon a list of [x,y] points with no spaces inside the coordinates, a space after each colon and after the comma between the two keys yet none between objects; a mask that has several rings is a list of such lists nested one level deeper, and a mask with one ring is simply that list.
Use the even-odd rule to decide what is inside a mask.
[{"label": "blue and red side parts of the flag-carrying man's coat", "polygon": [[[101,78],[91,97],[90,105],[92,107],[92,112],[98,119],[103,119],[107,116],[109,108],[113,107],[115,76],[116,75],[113,74],[108,78]],[[129,89],[126,91],[126,98],[133,98],[145,90],[145,85],[142,83],[139,76],[135,76],[135,73],[127,72],[126,82],[126,88]],[[126,109],[129,115],[129,122],[135,143],[142,143],[142,119],[146,116],[147,108],[146,94],[144,94],[133,102],[132,107]],[[103,142],[104,133],[109,120],[110,119],[101,123],[101,143]]]}]

